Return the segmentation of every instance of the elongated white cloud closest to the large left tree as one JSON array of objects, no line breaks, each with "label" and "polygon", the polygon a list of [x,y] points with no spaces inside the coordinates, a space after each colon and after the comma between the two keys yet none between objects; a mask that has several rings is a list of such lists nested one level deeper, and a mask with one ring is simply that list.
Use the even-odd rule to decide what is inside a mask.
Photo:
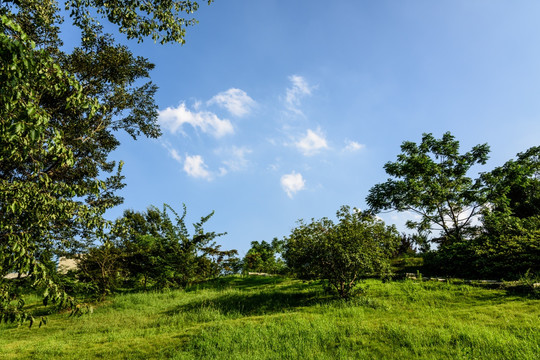
[{"label": "elongated white cloud closest to the large left tree", "polygon": [[227,119],[220,119],[210,111],[192,112],[186,108],[186,104],[181,103],[176,108],[168,107],[159,111],[159,123],[171,133],[182,131],[184,124],[190,124],[194,128],[199,128],[204,133],[209,133],[216,138],[234,133],[231,122]]}]

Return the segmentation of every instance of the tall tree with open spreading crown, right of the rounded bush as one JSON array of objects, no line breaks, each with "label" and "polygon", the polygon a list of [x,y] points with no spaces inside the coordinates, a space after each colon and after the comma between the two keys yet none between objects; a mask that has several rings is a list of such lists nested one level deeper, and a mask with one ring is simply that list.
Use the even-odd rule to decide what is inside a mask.
[{"label": "tall tree with open spreading crown, right of the rounded bush", "polygon": [[441,245],[462,241],[474,234],[472,221],[486,203],[480,179],[467,176],[476,164],[485,164],[489,146],[477,145],[459,153],[459,142],[449,132],[441,139],[423,134],[422,142],[405,141],[397,161],[384,165],[393,178],[373,186],[366,198],[371,211],[410,211],[420,215],[409,228],[420,233],[440,231],[433,241]]}]

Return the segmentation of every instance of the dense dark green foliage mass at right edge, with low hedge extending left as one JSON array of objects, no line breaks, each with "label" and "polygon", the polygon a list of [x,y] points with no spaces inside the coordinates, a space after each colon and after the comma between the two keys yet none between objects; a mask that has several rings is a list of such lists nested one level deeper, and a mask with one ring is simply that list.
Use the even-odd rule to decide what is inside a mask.
[{"label": "dense dark green foliage mass at right edge, with low hedge extending left", "polygon": [[489,201],[482,232],[429,254],[426,269],[505,280],[517,280],[527,272],[540,274],[539,153],[540,147],[533,147],[482,175]]}]

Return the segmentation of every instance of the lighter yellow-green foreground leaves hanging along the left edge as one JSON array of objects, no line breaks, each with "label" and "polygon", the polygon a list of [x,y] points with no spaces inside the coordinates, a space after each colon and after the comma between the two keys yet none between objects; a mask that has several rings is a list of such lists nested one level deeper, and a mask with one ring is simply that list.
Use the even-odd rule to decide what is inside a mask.
[{"label": "lighter yellow-green foreground leaves hanging along the left edge", "polygon": [[[9,301],[11,271],[31,274],[34,285],[47,284],[46,298],[69,301],[52,282],[43,263],[59,227],[100,224],[103,208],[75,198],[98,195],[100,182],[56,181],[55,172],[75,163],[72,149],[43,99],[56,99],[58,111],[94,113],[98,106],[80,84],[45,52],[36,50],[21,27],[2,15],[0,31],[0,299],[1,320],[24,321],[24,301]],[[79,110],[77,110],[79,111]],[[30,319],[31,320],[31,319]]]}]

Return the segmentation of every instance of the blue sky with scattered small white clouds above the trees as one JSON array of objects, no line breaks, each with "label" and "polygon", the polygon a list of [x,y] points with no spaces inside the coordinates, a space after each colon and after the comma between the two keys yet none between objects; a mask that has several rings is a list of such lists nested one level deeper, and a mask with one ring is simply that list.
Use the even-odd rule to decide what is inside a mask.
[{"label": "blue sky with scattered small white clouds above the trees", "polygon": [[[300,218],[365,208],[405,140],[451,131],[488,171],[540,139],[540,3],[216,0],[156,64],[163,136],[122,145],[123,205],[215,210],[243,255]],[[121,39],[120,36],[117,36]],[[404,214],[385,214],[403,229]]]}]

